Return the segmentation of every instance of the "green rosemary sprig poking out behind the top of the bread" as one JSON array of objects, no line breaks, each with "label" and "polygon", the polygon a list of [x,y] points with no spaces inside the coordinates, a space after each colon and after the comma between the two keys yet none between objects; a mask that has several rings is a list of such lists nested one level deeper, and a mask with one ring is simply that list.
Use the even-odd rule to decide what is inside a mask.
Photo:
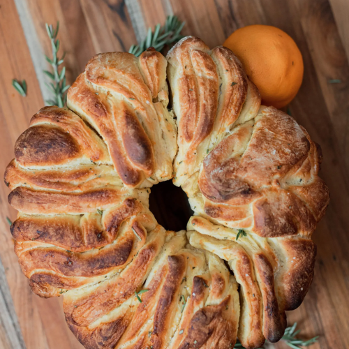
[{"label": "green rosemary sprig poking out behind the top of the bread", "polygon": [[138,57],[148,47],[154,47],[156,51],[161,51],[165,45],[174,44],[183,38],[181,29],[183,29],[184,24],[185,22],[181,22],[177,16],[168,16],[163,27],[156,24],[154,31],[149,28],[147,38],[139,45],[132,45],[128,52]]}]

